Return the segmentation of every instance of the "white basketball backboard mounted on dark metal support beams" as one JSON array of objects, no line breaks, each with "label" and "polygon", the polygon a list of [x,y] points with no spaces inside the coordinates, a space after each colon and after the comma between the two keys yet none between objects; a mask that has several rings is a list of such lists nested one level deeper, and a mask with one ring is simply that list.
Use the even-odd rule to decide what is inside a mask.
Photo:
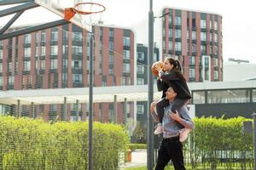
[{"label": "white basketball backboard mounted on dark metal support beams", "polygon": [[[78,3],[84,3],[84,0],[35,0],[35,3],[38,3],[38,5],[61,16],[61,18],[64,19],[64,13],[66,8],[73,8]],[[98,18],[99,15],[100,14],[74,14],[73,18],[69,21],[77,26],[88,30],[88,25],[90,25],[92,22],[91,20],[97,20],[97,22],[100,21],[100,18]]]}]

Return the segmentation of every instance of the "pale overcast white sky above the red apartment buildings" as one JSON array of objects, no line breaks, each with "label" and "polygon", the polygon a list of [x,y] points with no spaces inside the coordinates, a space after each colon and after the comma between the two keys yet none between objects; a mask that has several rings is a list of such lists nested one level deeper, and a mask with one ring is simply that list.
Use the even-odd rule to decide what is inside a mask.
[{"label": "pale overcast white sky above the red apartment buildings", "polygon": [[[62,0],[63,2],[66,0]],[[107,10],[104,24],[131,27],[139,20],[148,20],[149,0],[96,0]],[[185,8],[217,13],[223,16],[223,54],[228,58],[247,59],[256,64],[256,10],[253,0],[153,0],[154,14],[164,7]],[[49,11],[34,8],[22,14],[15,25],[47,22],[60,19]],[[0,19],[4,26],[8,17]],[[148,29],[148,25],[145,26]]]}]

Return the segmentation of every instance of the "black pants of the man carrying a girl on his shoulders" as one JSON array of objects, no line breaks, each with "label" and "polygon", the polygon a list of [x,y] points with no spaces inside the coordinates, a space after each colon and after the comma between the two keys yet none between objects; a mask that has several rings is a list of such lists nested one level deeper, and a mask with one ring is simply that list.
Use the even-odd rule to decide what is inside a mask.
[{"label": "black pants of the man carrying a girl on his shoulders", "polygon": [[175,170],[186,169],[183,161],[183,144],[179,142],[178,137],[162,140],[154,170],[164,170],[170,160]]}]

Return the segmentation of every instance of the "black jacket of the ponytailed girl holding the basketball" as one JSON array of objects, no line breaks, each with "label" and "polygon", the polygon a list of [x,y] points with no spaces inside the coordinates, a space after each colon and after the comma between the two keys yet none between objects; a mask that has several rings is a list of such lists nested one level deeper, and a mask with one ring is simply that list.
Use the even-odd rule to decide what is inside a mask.
[{"label": "black jacket of the ponytailed girl holding the basketball", "polygon": [[[163,90],[163,93],[167,91],[167,89],[172,86],[174,91],[177,93],[177,99],[191,99],[191,94],[189,92],[189,87],[187,82],[183,80],[182,77],[178,77],[177,71],[171,71],[166,74],[162,74],[160,77],[163,81],[161,85],[159,85],[159,81],[157,83],[158,90],[160,91],[160,87]],[[168,85],[166,87],[166,84]],[[164,95],[164,94],[163,94]],[[165,94],[166,95],[166,94]]]}]

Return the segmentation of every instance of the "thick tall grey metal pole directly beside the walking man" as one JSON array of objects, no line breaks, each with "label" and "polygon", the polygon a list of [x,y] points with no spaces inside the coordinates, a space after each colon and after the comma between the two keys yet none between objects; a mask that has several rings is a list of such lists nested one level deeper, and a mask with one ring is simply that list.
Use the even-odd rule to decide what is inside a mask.
[{"label": "thick tall grey metal pole directly beside the walking man", "polygon": [[154,57],[154,13],[153,13],[153,0],[149,0],[148,12],[148,145],[147,145],[147,164],[148,170],[154,168],[154,123],[150,115],[150,104],[153,102],[153,76],[151,72],[151,65],[153,64]]}]

